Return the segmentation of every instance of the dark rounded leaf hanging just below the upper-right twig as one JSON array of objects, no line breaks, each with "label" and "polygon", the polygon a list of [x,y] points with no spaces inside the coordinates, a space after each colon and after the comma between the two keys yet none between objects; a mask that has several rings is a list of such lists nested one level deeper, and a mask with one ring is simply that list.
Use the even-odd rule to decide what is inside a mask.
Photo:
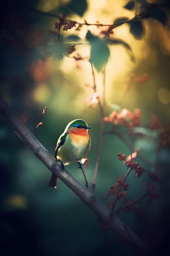
[{"label": "dark rounded leaf hanging just below the upper-right twig", "polygon": [[141,39],[144,35],[144,26],[141,20],[133,20],[128,23],[130,25],[130,33],[136,38]]}]

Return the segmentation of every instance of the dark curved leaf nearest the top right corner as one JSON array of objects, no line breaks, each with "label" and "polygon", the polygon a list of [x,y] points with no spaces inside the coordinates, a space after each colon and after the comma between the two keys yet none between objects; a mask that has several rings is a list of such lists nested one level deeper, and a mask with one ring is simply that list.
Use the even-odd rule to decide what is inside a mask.
[{"label": "dark curved leaf nearest the top right corner", "polygon": [[161,22],[163,25],[166,25],[168,20],[166,12],[157,7],[149,8],[144,18],[154,18],[159,20],[159,22]]}]

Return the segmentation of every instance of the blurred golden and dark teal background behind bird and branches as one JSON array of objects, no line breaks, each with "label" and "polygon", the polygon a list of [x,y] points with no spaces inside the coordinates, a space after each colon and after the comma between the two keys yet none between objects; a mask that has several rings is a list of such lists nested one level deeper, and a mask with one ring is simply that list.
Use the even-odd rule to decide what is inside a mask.
[{"label": "blurred golden and dark teal background behind bird and branches", "polygon": [[[66,12],[68,0],[5,1],[1,9],[0,34],[0,95],[13,112],[33,131],[43,108],[42,117],[35,136],[53,155],[58,137],[73,119],[84,119],[93,129],[88,154],[89,169],[84,167],[89,184],[93,182],[95,162],[100,134],[100,111],[93,98],[91,65],[88,61],[75,61],[73,56],[89,58],[90,46],[84,43],[88,30],[101,36],[103,27],[82,26],[61,31],[62,38],[76,35],[83,44],[77,45],[68,56],[60,56],[62,44],[49,34],[55,31],[57,17],[49,13]],[[76,1],[74,1],[76,2]],[[77,1],[68,13],[68,19],[77,22],[113,24],[119,17],[133,18],[135,10],[124,8],[126,0],[83,0]],[[145,1],[138,1],[140,4]],[[160,146],[160,132],[170,125],[170,23],[168,1],[157,2],[167,14],[166,25],[156,19],[142,20],[144,30],[140,38],[129,31],[127,24],[115,28],[111,38],[124,40],[132,53],[122,45],[110,45],[110,57],[106,65],[106,108],[108,117],[114,110],[123,108],[134,112],[141,110],[140,135],[128,135],[128,128],[116,127],[130,145],[140,148],[144,156],[139,164],[157,173],[159,182],[155,193],[159,199],[152,204],[141,202],[143,218],[134,212],[119,213],[119,217],[138,236],[146,240],[154,227],[166,220],[169,225],[168,199],[170,188],[170,148],[166,141]],[[107,27],[104,27],[107,29]],[[57,31],[57,30],[56,30]],[[130,54],[129,54],[130,53]],[[132,58],[135,58],[133,61]],[[141,81],[130,82],[132,76]],[[146,77],[148,79],[142,79]],[[95,70],[98,97],[102,96],[103,76]],[[130,90],[121,97],[130,83]],[[41,109],[41,110],[39,110]],[[155,118],[155,119],[153,119]],[[26,121],[25,121],[26,119]],[[154,129],[153,120],[160,126]],[[158,121],[159,120],[159,121]],[[110,130],[113,124],[105,124]],[[142,127],[144,129],[142,130]],[[167,128],[168,129],[168,128]],[[167,135],[168,134],[168,135]],[[102,227],[97,217],[62,182],[57,189],[47,188],[49,170],[33,155],[4,119],[0,118],[1,178],[0,178],[0,250],[2,255],[132,255],[133,249],[123,243],[110,230]],[[170,141],[169,141],[170,142]],[[126,166],[117,159],[117,153],[130,155],[130,149],[115,135],[105,135],[96,184],[96,194],[105,202],[110,186],[126,174]],[[144,161],[146,159],[146,161]],[[75,163],[67,168],[80,182],[84,177]],[[135,200],[144,194],[141,185],[147,183],[146,173],[135,179],[128,177],[128,197]],[[110,196],[110,202],[114,197]],[[107,204],[107,201],[106,201]],[[161,224],[159,220],[161,219]],[[161,231],[160,231],[161,230]],[[166,230],[169,232],[169,229]],[[166,248],[168,234],[162,237],[161,246]],[[162,248],[162,247],[161,247]]]}]

